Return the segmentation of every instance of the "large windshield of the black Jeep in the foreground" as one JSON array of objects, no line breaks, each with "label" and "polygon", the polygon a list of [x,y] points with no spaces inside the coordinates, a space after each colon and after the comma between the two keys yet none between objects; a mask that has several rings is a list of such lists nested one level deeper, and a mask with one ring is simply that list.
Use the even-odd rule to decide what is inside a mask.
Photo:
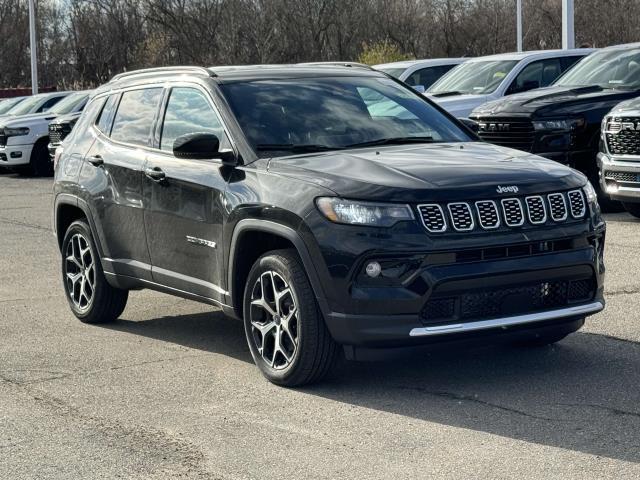
[{"label": "large windshield of the black Jeep in the foreground", "polygon": [[471,140],[426,100],[389,78],[292,78],[221,88],[261,156]]}]

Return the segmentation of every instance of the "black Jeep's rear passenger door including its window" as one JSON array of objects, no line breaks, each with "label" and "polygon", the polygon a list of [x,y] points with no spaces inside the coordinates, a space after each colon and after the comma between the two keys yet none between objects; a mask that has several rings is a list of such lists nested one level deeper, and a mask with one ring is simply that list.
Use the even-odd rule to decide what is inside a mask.
[{"label": "black Jeep's rear passenger door including its window", "polygon": [[92,197],[105,264],[114,273],[151,280],[144,232],[142,168],[163,88],[112,95],[94,126],[97,132],[82,169]]}]

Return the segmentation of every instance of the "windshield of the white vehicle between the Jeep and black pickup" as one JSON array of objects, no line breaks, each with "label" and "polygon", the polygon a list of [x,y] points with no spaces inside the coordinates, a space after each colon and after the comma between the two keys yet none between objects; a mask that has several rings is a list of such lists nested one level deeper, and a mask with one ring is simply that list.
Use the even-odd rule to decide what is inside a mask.
[{"label": "windshield of the white vehicle between the Jeep and black pickup", "polygon": [[517,64],[517,60],[466,62],[446,73],[427,90],[427,93],[491,93]]}]

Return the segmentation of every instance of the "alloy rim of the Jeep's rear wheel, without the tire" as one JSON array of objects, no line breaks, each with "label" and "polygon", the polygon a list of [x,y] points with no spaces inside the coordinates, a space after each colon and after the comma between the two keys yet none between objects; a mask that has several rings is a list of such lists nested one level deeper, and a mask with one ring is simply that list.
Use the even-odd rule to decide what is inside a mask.
[{"label": "alloy rim of the Jeep's rear wheel, without the tire", "polygon": [[64,274],[69,298],[78,310],[86,311],[95,294],[96,268],[89,241],[79,233],[67,244]]}]

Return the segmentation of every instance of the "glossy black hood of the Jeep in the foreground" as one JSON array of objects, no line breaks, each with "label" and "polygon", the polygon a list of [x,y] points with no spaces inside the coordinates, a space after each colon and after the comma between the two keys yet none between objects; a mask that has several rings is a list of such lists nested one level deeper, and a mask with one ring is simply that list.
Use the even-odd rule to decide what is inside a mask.
[{"label": "glossy black hood of the Jeep in the foreground", "polygon": [[[481,142],[385,146],[278,157],[269,171],[315,183],[346,198],[402,202],[501,197],[585,184],[585,177],[536,155]],[[509,194],[506,194],[507,196]]]}]

